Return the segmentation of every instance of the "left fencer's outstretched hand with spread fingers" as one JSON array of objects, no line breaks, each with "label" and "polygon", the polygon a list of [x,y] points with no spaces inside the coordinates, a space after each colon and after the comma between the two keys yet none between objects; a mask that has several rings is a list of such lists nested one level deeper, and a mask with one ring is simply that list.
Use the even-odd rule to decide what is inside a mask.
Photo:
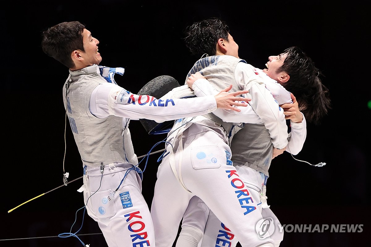
[{"label": "left fencer's outstretched hand with spread fingers", "polygon": [[247,106],[248,105],[247,101],[251,101],[251,99],[241,97],[238,95],[249,93],[249,90],[239,90],[236,92],[228,93],[228,91],[231,89],[232,89],[232,84],[226,89],[221,90],[215,96],[216,105],[218,108],[221,108],[221,109],[241,111],[240,109],[233,107],[233,106]]}]

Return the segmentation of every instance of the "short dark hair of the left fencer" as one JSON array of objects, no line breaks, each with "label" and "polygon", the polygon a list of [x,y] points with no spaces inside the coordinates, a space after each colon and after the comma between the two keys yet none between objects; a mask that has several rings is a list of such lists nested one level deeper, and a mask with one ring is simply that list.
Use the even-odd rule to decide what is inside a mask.
[{"label": "short dark hair of the left fencer", "polygon": [[84,50],[83,30],[85,25],[79,21],[62,22],[43,31],[41,47],[50,57],[68,68],[75,67],[71,58],[74,50]]}]

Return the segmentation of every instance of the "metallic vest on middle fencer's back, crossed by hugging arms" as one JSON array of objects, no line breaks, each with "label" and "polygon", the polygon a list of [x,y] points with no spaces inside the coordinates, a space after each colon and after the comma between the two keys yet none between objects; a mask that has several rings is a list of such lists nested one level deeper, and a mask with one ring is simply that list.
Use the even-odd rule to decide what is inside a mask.
[{"label": "metallic vest on middle fencer's back, crossed by hugging arms", "polygon": [[[246,63],[243,59],[238,59],[229,55],[204,57],[198,60],[188,72],[185,84],[187,84],[188,77],[198,71],[206,77],[217,91],[225,89],[230,84],[232,84],[231,92],[241,90],[237,84],[236,78],[234,77],[234,70],[239,62]],[[208,113],[203,116],[223,126],[227,135],[229,137],[231,136],[234,128],[233,123],[223,122],[223,120],[213,113]]]}]

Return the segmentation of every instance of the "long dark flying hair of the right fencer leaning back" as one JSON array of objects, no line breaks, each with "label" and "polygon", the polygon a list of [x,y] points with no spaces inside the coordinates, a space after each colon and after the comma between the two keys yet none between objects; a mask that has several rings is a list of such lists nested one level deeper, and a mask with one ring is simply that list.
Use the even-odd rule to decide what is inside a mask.
[{"label": "long dark flying hair of the right fencer leaning back", "polygon": [[318,124],[331,109],[328,89],[319,79],[321,73],[299,47],[290,47],[281,54],[287,54],[287,57],[276,72],[289,74],[285,89],[294,94],[305,119]]}]

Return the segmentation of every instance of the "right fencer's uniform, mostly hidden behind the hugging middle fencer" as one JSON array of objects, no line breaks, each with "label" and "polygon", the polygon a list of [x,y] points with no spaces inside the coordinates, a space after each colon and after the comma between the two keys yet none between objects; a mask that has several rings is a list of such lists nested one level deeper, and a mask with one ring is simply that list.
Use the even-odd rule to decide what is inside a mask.
[{"label": "right fencer's uniform, mostly hidden behind the hugging middle fencer", "polygon": [[[272,92],[279,104],[292,103],[290,93],[286,89],[275,80],[270,79],[261,70],[255,69],[255,71],[259,76],[265,78],[267,89]],[[204,79],[197,80],[193,86],[195,94],[197,96],[213,94],[214,89],[210,84],[211,83]],[[279,246],[280,241],[283,239],[283,232],[279,232],[279,220],[272,210],[270,210],[265,195],[265,185],[269,176],[268,169],[272,161],[273,144],[269,131],[266,129],[262,121],[259,120],[259,118],[256,119],[257,116],[249,111],[249,109],[241,110],[241,114],[233,114],[234,116],[232,120],[243,122],[244,127],[236,127],[233,129],[234,133],[231,135],[231,138],[233,137],[233,139],[230,139],[230,147],[232,150],[231,159],[233,161],[233,166],[239,173],[241,180],[250,189],[253,201],[257,202],[257,208],[261,212],[261,216],[255,219],[252,218],[249,224],[255,227],[261,217],[264,219],[272,218],[275,228],[267,235],[275,241],[275,246]],[[220,114],[226,116],[232,114],[229,111],[224,110],[218,110],[214,113],[218,116],[220,116]],[[231,120],[231,118],[229,120]],[[287,151],[290,151],[292,154],[297,154],[302,149],[306,138],[305,118],[303,117],[302,123],[290,123],[290,129],[290,141],[288,143],[289,148]],[[198,243],[198,245],[193,244],[196,242],[194,239],[199,238],[198,235],[193,235],[194,237],[192,238],[190,237],[190,234],[187,233],[187,230],[183,233],[183,229],[178,241],[183,241],[183,243],[186,241],[187,243],[190,243],[190,240],[188,239],[191,239],[191,241],[193,241],[192,244],[188,244],[187,246],[222,246],[221,243],[224,243],[225,246],[236,246],[238,242],[237,236],[235,236],[233,231],[229,229],[228,224],[223,224],[215,216],[212,210],[210,211],[207,220],[202,218],[202,214],[198,212],[201,208],[205,208],[202,202],[193,198],[187,208],[187,214],[184,215],[182,227],[187,229],[193,226],[202,229],[202,224],[207,221],[202,242]],[[198,212],[197,217],[192,216],[193,211]],[[207,212],[207,209],[204,211]],[[196,223],[194,221],[196,221]],[[198,225],[197,222],[200,224]],[[258,236],[256,229],[250,231],[249,234]],[[181,243],[179,243],[179,246],[181,246]]]}]

